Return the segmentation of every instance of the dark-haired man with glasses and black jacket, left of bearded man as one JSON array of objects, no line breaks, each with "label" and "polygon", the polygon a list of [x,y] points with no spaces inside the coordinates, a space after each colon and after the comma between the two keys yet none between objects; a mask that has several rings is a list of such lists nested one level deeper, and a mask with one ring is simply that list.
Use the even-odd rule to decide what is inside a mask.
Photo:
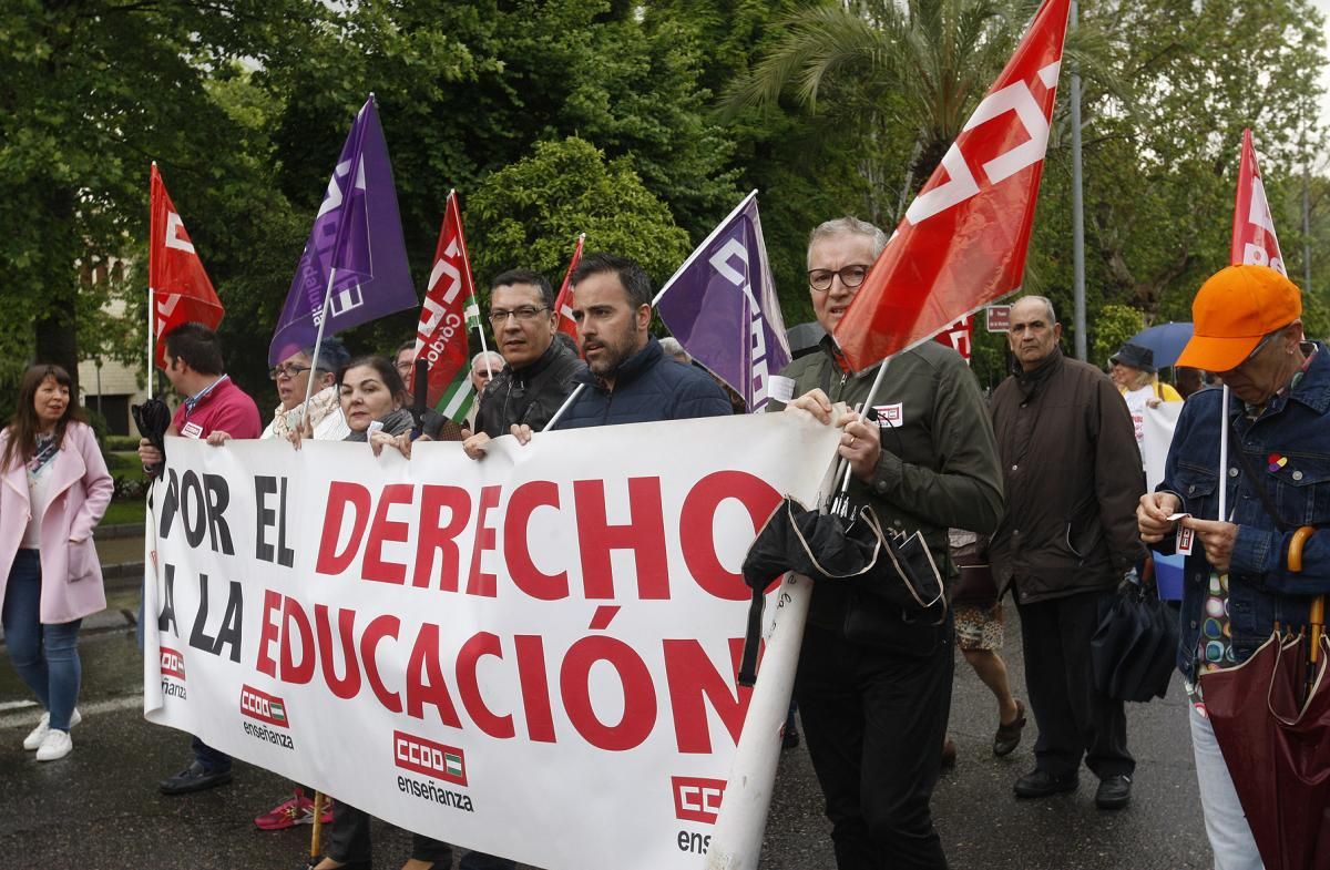
[{"label": "dark-haired man with glasses and black jacket, left of bearded man", "polygon": [[472,459],[484,455],[485,442],[509,434],[513,426],[544,428],[583,368],[577,354],[555,341],[555,290],[539,273],[513,269],[491,282],[489,326],[505,364],[480,396],[476,432],[463,442]]}]

